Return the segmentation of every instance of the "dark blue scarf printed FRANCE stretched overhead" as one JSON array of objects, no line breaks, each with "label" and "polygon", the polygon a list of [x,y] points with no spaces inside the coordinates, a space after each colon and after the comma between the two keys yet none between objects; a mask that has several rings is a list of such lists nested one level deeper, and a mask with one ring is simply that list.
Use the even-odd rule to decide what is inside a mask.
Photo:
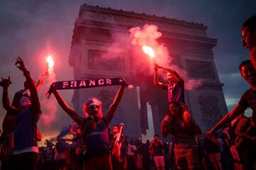
[{"label": "dark blue scarf printed FRANCE stretched overhead", "polygon": [[127,84],[127,82],[123,78],[56,81],[50,85],[50,89],[46,93],[46,97],[50,98],[52,89],[56,89],[56,90],[83,89],[83,88],[90,88],[90,87],[114,86],[114,85],[131,86],[130,84]]}]

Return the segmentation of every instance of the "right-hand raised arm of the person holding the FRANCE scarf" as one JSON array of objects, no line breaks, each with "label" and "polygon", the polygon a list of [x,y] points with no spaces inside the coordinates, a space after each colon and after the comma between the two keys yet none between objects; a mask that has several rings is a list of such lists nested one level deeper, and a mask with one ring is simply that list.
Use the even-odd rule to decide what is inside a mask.
[{"label": "right-hand raised arm of the person holding the FRANCE scarf", "polygon": [[119,105],[119,103],[122,99],[122,96],[124,94],[124,89],[125,89],[124,85],[120,86],[119,91],[117,92],[116,96],[114,97],[114,101],[109,108],[109,111],[105,115],[105,118],[107,119],[108,123],[110,123],[112,118],[114,117],[114,113],[117,110],[117,106]]}]

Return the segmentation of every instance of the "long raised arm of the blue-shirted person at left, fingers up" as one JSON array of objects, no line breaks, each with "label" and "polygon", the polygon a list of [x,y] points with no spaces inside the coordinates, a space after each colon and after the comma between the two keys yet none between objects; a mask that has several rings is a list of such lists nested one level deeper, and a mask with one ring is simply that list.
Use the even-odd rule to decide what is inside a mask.
[{"label": "long raised arm of the blue-shirted person at left, fingers up", "polygon": [[41,113],[40,102],[38,98],[38,93],[36,90],[36,84],[30,76],[30,72],[26,69],[25,64],[21,60],[21,57],[18,57],[16,60],[16,66],[18,69],[21,69],[23,75],[26,77],[26,81],[28,82],[28,89],[31,91],[31,109],[33,113]]}]

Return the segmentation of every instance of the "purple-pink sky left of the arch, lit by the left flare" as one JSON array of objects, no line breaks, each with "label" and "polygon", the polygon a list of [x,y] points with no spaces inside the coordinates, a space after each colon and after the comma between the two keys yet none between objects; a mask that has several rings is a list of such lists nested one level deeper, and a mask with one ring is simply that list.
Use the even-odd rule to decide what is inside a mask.
[{"label": "purple-pink sky left of the arch, lit by the left flare", "polygon": [[[73,69],[68,67],[68,54],[73,24],[82,2],[76,3],[72,1],[1,1],[0,67],[1,76],[10,75],[13,82],[9,88],[10,98],[14,96],[15,91],[23,89],[24,77],[14,65],[16,57],[23,58],[33,79],[37,80],[46,69],[44,57],[47,54],[48,45],[60,58],[55,67],[57,79],[73,79]],[[63,74],[58,74],[59,72]],[[38,94],[43,98],[45,92],[40,90]],[[69,103],[71,95],[72,91],[65,94]],[[42,110],[44,112],[44,109]],[[5,113],[2,108],[1,113]],[[42,120],[40,121],[39,129],[46,131],[43,135],[47,132],[59,131],[71,123],[65,113],[58,113],[55,119],[56,121],[50,126],[44,126]]]}]

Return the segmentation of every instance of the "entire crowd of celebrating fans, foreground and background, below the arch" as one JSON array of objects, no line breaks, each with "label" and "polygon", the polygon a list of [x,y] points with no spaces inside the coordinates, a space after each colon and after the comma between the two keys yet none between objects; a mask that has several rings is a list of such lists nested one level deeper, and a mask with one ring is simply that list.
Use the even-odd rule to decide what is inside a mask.
[{"label": "entire crowd of celebrating fans, foreground and background, below the arch", "polygon": [[[102,114],[102,101],[89,98],[83,105],[84,115],[68,106],[53,84],[52,93],[63,111],[78,125],[73,139],[58,137],[53,144],[38,148],[41,133],[37,128],[41,117],[38,98],[38,83],[31,78],[20,57],[16,66],[26,81],[24,89],[9,100],[11,79],[1,77],[2,102],[7,111],[0,137],[1,169],[256,169],[256,16],[242,26],[242,45],[250,50],[250,59],[241,62],[241,77],[250,89],[240,98],[239,103],[219,123],[202,137],[201,128],[193,119],[185,103],[184,84],[180,75],[172,69],[154,64],[154,85],[166,90],[169,107],[161,121],[161,137],[172,136],[167,144],[159,135],[154,140],[142,143],[140,139],[124,137],[124,124],[110,123],[119,106],[124,90],[129,84],[124,79],[100,79],[107,85],[119,85],[119,90],[107,113]],[[166,72],[168,84],[158,79],[158,70]],[[65,87],[67,84],[63,84]],[[85,86],[85,81],[80,82]],[[245,117],[246,108],[252,108],[252,116]],[[222,132],[216,133],[220,128]],[[70,144],[68,144],[70,142]]]}]

